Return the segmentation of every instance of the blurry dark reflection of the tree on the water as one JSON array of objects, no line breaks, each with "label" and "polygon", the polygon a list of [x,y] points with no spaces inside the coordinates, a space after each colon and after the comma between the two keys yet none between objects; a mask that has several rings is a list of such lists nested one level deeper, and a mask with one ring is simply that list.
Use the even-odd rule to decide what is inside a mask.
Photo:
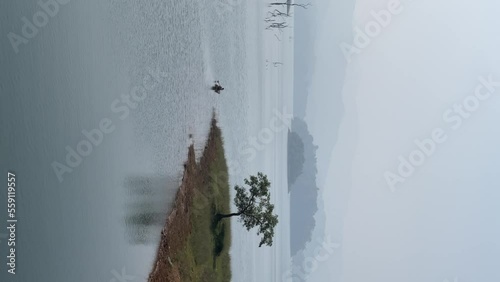
[{"label": "blurry dark reflection of the tree on the water", "polygon": [[130,176],[125,179],[127,190],[125,227],[130,244],[157,244],[181,175]]}]

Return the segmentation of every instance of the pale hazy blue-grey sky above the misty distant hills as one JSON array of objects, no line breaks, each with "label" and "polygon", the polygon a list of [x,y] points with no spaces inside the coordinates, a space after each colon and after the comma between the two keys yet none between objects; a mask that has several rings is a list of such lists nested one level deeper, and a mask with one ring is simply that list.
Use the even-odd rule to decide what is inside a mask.
[{"label": "pale hazy blue-grey sky above the misty distant hills", "polygon": [[[352,27],[364,29],[371,11],[389,2],[356,1]],[[500,4],[436,2],[401,1],[390,23],[338,66],[346,70],[345,114],[319,170],[326,235],[341,247],[310,281],[500,281],[500,87],[479,79],[500,82]],[[338,95],[329,92],[328,74],[340,52],[329,33],[339,15],[325,10],[306,114],[318,143],[333,142],[324,133],[331,105],[321,101]],[[415,140],[434,131],[441,143],[433,141],[428,156],[413,153],[422,164],[391,191],[384,174],[398,175],[399,156],[408,160]]]}]

